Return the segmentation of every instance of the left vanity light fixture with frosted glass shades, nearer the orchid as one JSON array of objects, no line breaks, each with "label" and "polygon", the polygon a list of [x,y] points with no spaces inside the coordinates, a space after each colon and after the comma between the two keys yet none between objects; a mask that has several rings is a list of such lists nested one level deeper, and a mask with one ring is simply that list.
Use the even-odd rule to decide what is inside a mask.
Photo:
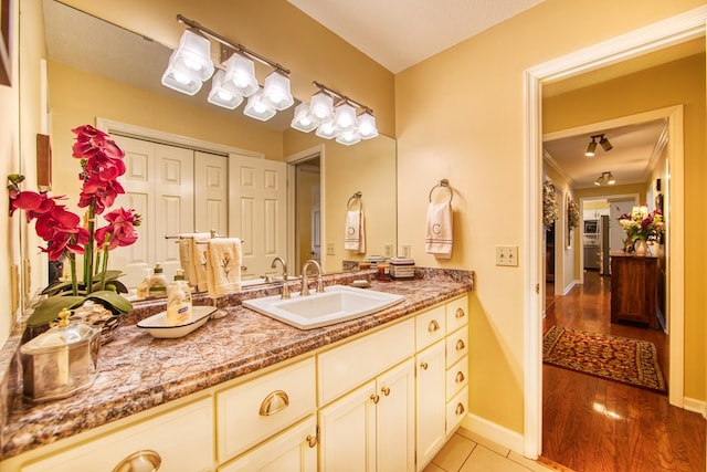
[{"label": "left vanity light fixture with frosted glass shades, nearer the orchid", "polygon": [[[182,34],[179,48],[169,59],[162,75],[165,86],[194,95],[203,82],[213,75],[209,103],[233,109],[244,98],[249,98],[243,113],[260,120],[270,119],[278,111],[294,104],[295,98],[289,87],[289,70],[181,14],[177,15],[177,20],[189,29]],[[220,69],[224,70],[218,71],[215,75],[209,39],[221,44],[223,65]],[[274,70],[265,77],[263,87],[255,76],[253,61],[270,65]]]}]

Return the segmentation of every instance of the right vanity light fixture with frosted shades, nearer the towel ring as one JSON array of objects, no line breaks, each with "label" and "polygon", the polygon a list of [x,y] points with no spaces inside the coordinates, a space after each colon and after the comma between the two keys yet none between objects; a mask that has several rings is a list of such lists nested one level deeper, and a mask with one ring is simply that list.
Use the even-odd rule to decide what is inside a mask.
[{"label": "right vanity light fixture with frosted shades, nearer the towel ring", "polygon": [[[312,96],[312,104],[307,105],[309,108],[306,119],[304,119],[304,113],[295,114],[292,122],[293,128],[305,133],[316,128],[317,136],[325,139],[336,138],[337,143],[347,146],[378,136],[376,117],[371,108],[319,82],[315,81],[313,85],[319,88],[319,92]],[[335,97],[338,99],[336,104]],[[357,108],[361,111],[358,115]],[[312,127],[313,124],[314,127]]]}]

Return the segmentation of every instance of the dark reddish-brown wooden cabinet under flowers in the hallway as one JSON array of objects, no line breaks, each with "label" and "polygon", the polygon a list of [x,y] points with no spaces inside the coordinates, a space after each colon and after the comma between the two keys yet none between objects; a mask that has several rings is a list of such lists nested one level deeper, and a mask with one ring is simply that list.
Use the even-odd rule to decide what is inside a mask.
[{"label": "dark reddish-brown wooden cabinet under flowers in the hallway", "polygon": [[611,253],[611,323],[658,329],[658,258]]}]

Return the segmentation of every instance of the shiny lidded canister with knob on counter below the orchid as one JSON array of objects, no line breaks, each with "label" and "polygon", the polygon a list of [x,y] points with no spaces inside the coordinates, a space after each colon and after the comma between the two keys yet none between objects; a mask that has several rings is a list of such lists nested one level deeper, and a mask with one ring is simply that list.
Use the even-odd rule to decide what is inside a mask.
[{"label": "shiny lidded canister with knob on counter below the orchid", "polygon": [[88,387],[95,377],[101,329],[70,323],[68,310],[45,333],[20,346],[24,396],[33,401],[57,400]]}]

